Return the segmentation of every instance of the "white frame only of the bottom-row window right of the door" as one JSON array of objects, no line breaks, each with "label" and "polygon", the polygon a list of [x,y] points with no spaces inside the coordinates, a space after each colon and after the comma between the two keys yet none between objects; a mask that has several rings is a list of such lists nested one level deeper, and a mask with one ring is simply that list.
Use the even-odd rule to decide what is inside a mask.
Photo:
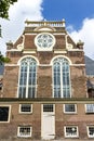
[{"label": "white frame only of the bottom-row window right of the door", "polygon": [[[67,134],[66,132],[66,128],[77,128],[77,134]],[[78,126],[65,126],[64,127],[64,133],[65,133],[65,138],[78,138],[79,137],[79,131],[78,131]]]}]

